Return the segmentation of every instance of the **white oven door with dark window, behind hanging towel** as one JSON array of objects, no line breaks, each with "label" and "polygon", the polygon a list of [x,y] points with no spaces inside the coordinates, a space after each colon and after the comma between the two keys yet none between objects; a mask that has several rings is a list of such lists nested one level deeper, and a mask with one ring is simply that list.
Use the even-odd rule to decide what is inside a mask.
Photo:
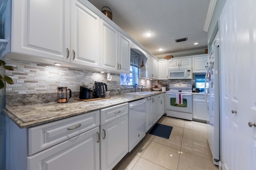
[{"label": "white oven door with dark window, behind hanging towel", "polygon": [[176,93],[166,93],[166,109],[192,113],[192,94],[182,94],[183,104],[176,104]]}]

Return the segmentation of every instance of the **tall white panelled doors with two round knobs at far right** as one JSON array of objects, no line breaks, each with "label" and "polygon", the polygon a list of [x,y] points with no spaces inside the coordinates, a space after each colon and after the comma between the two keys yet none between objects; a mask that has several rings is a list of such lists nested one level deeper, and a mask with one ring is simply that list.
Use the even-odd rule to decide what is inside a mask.
[{"label": "tall white panelled doors with two round knobs at far right", "polygon": [[227,0],[220,17],[222,169],[256,169],[255,2]]}]

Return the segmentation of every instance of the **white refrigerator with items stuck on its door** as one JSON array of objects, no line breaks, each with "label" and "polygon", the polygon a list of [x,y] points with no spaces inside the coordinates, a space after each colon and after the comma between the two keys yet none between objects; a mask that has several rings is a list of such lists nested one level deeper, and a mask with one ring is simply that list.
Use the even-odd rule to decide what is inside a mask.
[{"label": "white refrigerator with items stuck on its door", "polygon": [[214,42],[212,51],[208,56],[205,80],[209,83],[209,90],[205,90],[208,104],[208,143],[213,156],[213,163],[218,165],[220,160],[220,69],[219,45]]}]

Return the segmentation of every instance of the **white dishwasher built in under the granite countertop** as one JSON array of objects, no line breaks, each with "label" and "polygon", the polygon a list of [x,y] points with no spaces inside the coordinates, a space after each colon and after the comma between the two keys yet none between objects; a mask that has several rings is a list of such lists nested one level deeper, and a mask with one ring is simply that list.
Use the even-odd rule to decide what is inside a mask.
[{"label": "white dishwasher built in under the granite countertop", "polygon": [[129,103],[128,131],[131,152],[146,135],[146,99]]}]

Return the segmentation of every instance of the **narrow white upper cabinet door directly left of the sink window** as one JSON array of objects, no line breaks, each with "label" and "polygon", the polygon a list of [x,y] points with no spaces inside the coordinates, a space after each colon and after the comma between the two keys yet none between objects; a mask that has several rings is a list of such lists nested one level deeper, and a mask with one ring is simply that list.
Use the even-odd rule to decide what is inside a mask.
[{"label": "narrow white upper cabinet door directly left of the sink window", "polygon": [[119,72],[130,74],[130,59],[131,59],[131,41],[121,33],[118,34],[119,39],[119,54],[118,64]]}]

